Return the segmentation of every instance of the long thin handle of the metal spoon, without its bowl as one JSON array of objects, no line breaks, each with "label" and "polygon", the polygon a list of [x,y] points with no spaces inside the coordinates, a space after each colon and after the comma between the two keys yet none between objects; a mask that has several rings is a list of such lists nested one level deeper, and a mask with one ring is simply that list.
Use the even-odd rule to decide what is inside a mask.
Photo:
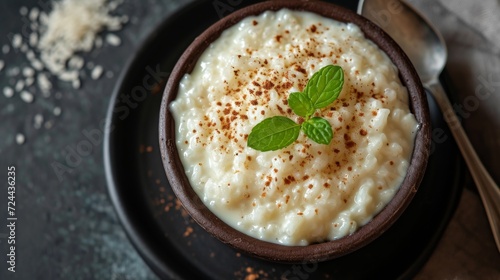
[{"label": "long thin handle of the metal spoon, without its bowl", "polygon": [[428,84],[427,87],[432,92],[434,99],[438,103],[445,121],[455,137],[455,141],[462,152],[462,156],[469,167],[476,187],[483,201],[486,215],[491,225],[493,237],[500,251],[500,189],[491,178],[490,174],[482,164],[476,151],[472,147],[467,134],[453,111],[450,100],[446,96],[442,85],[439,82]]}]

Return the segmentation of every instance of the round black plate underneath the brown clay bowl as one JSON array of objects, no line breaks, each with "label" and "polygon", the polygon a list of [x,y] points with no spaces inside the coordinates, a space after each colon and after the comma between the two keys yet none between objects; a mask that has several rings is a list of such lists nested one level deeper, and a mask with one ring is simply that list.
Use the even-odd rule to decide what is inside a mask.
[{"label": "round black plate underneath the brown clay bowl", "polygon": [[[328,262],[278,264],[239,254],[203,231],[176,202],[158,145],[168,73],[206,27],[255,2],[202,0],[182,7],[155,29],[120,76],[108,111],[104,161],[111,201],[130,240],[164,279],[411,278],[432,253],[462,191],[463,162],[451,137],[435,139],[423,183],[401,218],[373,243]],[[330,2],[353,10],[357,4]],[[450,135],[430,96],[429,102],[434,131]]]}]

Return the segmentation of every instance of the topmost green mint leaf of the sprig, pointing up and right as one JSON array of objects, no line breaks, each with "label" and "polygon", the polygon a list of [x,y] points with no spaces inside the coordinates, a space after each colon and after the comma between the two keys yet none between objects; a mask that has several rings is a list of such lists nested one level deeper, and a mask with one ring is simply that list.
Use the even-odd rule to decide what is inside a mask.
[{"label": "topmost green mint leaf of the sprig, pointing up and right", "polygon": [[313,108],[322,109],[337,99],[343,85],[344,71],[342,68],[336,65],[327,65],[309,79],[304,93],[311,100]]}]

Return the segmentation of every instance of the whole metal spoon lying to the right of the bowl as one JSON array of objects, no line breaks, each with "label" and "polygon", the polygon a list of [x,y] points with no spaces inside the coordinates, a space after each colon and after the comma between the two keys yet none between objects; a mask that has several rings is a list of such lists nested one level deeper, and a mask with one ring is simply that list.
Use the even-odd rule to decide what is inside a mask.
[{"label": "whole metal spoon lying to the right of the bowl", "polygon": [[474,151],[439,81],[447,60],[443,38],[423,15],[404,1],[360,0],[357,12],[378,24],[401,46],[423,85],[434,96],[479,190],[500,251],[500,189]]}]

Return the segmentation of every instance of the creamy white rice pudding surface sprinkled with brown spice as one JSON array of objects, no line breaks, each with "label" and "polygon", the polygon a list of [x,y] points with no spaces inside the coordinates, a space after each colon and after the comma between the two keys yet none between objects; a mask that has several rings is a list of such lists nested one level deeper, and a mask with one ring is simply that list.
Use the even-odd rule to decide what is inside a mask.
[{"label": "creamy white rice pudding surface sprinkled with brown spice", "polygon": [[[302,121],[288,95],[331,64],[343,68],[344,87],[318,112],[333,128],[329,145],[301,133],[278,151],[247,147],[265,118]],[[357,26],[288,9],[224,31],[170,109],[202,201],[230,226],[283,245],[338,239],[369,222],[403,181],[418,129],[397,68]]]}]

